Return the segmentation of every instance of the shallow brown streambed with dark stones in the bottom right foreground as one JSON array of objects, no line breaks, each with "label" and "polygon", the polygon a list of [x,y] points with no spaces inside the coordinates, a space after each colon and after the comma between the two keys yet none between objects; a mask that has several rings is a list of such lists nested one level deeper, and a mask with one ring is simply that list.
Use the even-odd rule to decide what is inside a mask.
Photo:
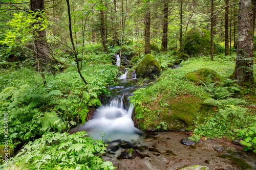
[{"label": "shallow brown streambed with dark stones in the bottom right foreground", "polygon": [[103,160],[122,170],[256,169],[256,156],[231,142],[205,140],[184,145],[181,141],[185,137],[187,132],[148,133],[131,141],[129,148],[121,147],[121,140],[116,140],[109,143]]}]

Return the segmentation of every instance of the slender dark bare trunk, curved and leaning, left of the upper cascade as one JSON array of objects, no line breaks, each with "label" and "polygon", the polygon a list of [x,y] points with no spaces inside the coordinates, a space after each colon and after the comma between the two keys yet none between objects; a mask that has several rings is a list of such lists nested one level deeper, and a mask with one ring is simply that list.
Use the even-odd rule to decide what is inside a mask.
[{"label": "slender dark bare trunk, curved and leaning, left of the upper cascade", "polygon": [[74,52],[74,55],[75,55],[75,59],[76,59],[76,67],[77,67],[77,71],[80,75],[80,78],[82,79],[82,81],[85,83],[85,84],[88,84],[86,82],[86,80],[83,78],[82,74],[81,74],[81,71],[80,71],[80,68],[79,68],[79,61],[78,61],[78,58],[77,58],[77,53],[76,53],[76,48],[75,48],[75,44],[74,44],[74,40],[73,40],[73,35],[72,35],[72,25],[71,25],[71,14],[70,14],[70,4],[69,4],[69,0],[66,0],[67,2],[67,6],[68,6],[68,15],[69,15],[69,34],[70,34],[70,40],[71,40],[71,43],[72,43],[72,47],[73,47],[73,52]]}]

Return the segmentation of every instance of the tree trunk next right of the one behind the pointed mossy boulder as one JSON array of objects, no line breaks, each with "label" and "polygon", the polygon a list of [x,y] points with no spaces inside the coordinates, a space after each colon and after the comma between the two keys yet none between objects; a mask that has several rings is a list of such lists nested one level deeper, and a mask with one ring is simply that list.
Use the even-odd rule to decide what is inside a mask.
[{"label": "tree trunk next right of the one behind the pointed mossy boulder", "polygon": [[163,7],[163,38],[161,51],[166,51],[168,45],[168,1],[164,2]]}]

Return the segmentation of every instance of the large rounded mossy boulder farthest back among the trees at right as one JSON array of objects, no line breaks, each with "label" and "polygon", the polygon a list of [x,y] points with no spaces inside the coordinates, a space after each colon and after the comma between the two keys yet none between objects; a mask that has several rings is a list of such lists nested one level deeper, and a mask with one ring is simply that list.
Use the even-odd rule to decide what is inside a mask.
[{"label": "large rounded mossy boulder farthest back among the trees at right", "polygon": [[[201,28],[189,30],[183,38],[184,53],[189,56],[210,55],[210,32]],[[214,54],[217,54],[217,47],[214,43]]]}]

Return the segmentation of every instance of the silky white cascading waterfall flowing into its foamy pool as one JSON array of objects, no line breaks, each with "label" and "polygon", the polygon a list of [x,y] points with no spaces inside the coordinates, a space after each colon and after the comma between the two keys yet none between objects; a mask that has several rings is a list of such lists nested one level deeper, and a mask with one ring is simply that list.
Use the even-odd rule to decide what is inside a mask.
[{"label": "silky white cascading waterfall flowing into its foamy pool", "polygon": [[[119,55],[116,55],[117,65],[120,64]],[[105,101],[106,104],[101,105],[93,119],[87,123],[74,128],[70,133],[76,131],[87,131],[89,136],[95,140],[101,137],[99,133],[105,133],[104,140],[110,138],[112,141],[117,139],[136,140],[143,134],[142,131],[134,127],[131,118],[134,105],[130,103],[129,96],[136,90],[136,87],[131,85],[136,80],[126,80],[128,70],[121,75],[118,86],[113,86],[109,90],[112,100]]]}]

